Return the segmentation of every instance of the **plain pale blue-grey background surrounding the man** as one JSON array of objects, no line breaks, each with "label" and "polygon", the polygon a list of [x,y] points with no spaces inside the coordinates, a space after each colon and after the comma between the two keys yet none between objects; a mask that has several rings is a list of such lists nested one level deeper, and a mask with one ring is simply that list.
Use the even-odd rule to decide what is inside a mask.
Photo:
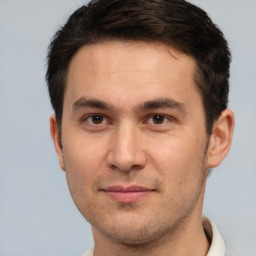
[{"label": "plain pale blue-grey background surrounding the man", "polygon": [[[57,163],[44,81],[50,38],[83,2],[0,0],[0,256],[79,256],[93,242]],[[228,245],[255,256],[256,1],[191,2],[219,25],[233,53],[234,141],[208,179],[204,214]]]}]

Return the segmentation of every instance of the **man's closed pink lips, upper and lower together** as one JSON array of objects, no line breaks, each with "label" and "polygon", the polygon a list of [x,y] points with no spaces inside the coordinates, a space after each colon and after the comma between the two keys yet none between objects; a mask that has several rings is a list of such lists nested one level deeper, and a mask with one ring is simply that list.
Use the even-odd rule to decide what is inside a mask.
[{"label": "man's closed pink lips, upper and lower together", "polygon": [[120,185],[110,186],[102,189],[107,196],[112,200],[119,203],[135,203],[155,192],[155,190],[141,187],[141,186],[129,186],[123,187]]}]

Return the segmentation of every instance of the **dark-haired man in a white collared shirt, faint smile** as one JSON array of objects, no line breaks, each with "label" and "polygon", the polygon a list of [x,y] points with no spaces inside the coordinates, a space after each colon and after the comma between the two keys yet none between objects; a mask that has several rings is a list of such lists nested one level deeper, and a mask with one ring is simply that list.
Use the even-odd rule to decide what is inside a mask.
[{"label": "dark-haired man in a white collared shirt, faint smile", "polygon": [[202,218],[209,169],[228,153],[230,52],[183,0],[95,0],[49,48],[51,135],[91,223],[84,255],[224,256]]}]

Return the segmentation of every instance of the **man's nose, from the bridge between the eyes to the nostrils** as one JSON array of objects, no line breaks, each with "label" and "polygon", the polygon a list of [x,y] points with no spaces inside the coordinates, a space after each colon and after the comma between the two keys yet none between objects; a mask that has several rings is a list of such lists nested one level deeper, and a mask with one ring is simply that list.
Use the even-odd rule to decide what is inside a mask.
[{"label": "man's nose, from the bridge between the eyes to the nostrils", "polygon": [[108,165],[119,171],[143,169],[146,155],[140,130],[131,124],[123,124],[113,133],[108,152]]}]

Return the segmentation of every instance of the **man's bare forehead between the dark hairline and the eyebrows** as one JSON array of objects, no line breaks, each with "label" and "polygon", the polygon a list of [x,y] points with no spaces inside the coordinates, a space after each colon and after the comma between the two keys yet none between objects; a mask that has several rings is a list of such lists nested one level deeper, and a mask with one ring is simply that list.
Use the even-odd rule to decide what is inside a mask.
[{"label": "man's bare forehead between the dark hairline and the eyebrows", "polygon": [[154,94],[163,97],[168,90],[181,96],[197,91],[195,68],[193,58],[160,43],[110,41],[84,46],[71,60],[64,104],[65,98],[105,98],[106,93],[126,101],[128,95],[148,96],[146,100]]}]

